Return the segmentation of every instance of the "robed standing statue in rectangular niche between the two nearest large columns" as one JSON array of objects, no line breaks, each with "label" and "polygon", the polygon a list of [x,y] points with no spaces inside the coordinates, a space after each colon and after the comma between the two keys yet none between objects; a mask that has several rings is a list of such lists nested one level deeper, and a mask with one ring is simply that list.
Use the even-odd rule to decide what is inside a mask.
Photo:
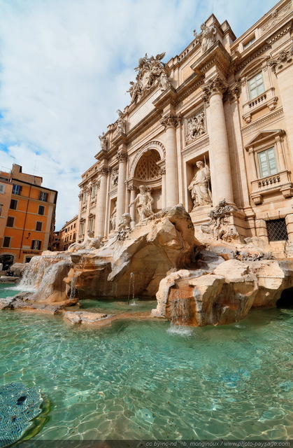
[{"label": "robed standing statue in rectangular niche between the two nearest large columns", "polygon": [[208,165],[206,165],[206,163],[203,164],[201,160],[196,162],[196,167],[198,168],[198,171],[192,179],[190,186],[188,186],[188,190],[190,190],[194,202],[193,209],[202,205],[212,204],[213,202],[212,193],[209,187],[210,169],[208,168]]}]

